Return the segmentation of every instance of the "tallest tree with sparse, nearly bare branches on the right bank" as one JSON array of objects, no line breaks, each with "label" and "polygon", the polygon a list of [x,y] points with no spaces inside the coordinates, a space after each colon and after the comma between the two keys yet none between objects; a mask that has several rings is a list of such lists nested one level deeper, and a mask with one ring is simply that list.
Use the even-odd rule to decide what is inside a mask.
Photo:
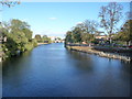
[{"label": "tallest tree with sparse, nearly bare branches on the right bank", "polygon": [[101,11],[99,12],[101,26],[109,34],[109,40],[111,43],[111,35],[117,30],[117,24],[122,16],[122,6],[117,2],[110,2],[106,7],[101,7]]}]

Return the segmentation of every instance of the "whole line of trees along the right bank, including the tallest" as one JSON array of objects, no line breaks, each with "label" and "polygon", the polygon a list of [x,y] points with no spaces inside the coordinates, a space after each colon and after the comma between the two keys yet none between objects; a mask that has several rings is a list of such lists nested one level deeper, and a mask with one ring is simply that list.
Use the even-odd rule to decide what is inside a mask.
[{"label": "whole line of trees along the right bank, including the tallest", "polygon": [[132,13],[128,12],[128,20],[121,29],[117,28],[122,18],[122,6],[117,2],[110,2],[108,6],[102,6],[99,11],[100,22],[86,20],[77,24],[66,33],[66,43],[98,43],[96,36],[100,34],[98,28],[103,29],[110,44],[113,42],[132,42]]}]

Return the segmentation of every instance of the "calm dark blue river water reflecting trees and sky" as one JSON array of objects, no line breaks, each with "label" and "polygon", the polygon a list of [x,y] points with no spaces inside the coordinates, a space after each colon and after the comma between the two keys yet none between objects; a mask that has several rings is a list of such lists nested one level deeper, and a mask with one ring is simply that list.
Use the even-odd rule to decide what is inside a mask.
[{"label": "calm dark blue river water reflecting trees and sky", "polygon": [[63,43],[40,45],[6,61],[3,97],[129,97],[130,64],[75,51]]}]

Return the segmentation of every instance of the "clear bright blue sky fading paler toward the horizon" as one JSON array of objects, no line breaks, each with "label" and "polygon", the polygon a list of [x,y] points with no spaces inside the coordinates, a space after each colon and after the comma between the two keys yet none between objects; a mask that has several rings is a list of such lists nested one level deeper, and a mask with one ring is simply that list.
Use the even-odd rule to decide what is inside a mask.
[{"label": "clear bright blue sky fading paler toward the horizon", "polygon": [[[130,10],[129,2],[119,2],[123,6],[123,14]],[[31,25],[35,34],[65,37],[77,23],[85,20],[99,21],[100,7],[108,2],[21,2],[12,8],[2,7],[2,21],[20,19]],[[122,25],[122,18],[119,25]]]}]

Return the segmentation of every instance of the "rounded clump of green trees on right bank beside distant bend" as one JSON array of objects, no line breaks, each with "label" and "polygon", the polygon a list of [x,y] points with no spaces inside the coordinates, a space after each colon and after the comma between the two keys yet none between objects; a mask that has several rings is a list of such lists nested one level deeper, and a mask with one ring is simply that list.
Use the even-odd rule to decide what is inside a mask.
[{"label": "rounded clump of green trees on right bank beside distant bend", "polygon": [[86,20],[85,22],[77,24],[66,33],[66,43],[91,43],[95,41],[98,24],[96,21]]}]

